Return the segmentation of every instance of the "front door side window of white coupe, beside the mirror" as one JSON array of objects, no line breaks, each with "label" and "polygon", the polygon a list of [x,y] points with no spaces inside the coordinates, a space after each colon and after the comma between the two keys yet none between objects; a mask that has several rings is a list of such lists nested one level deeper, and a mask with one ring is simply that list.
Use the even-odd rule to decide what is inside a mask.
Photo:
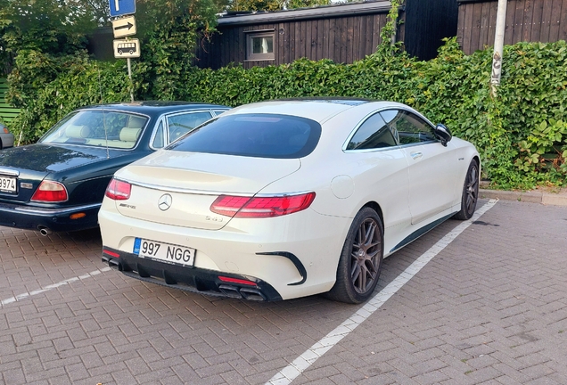
[{"label": "front door side window of white coupe, beside the mirror", "polygon": [[382,118],[392,132],[399,137],[400,144],[422,143],[435,140],[432,127],[425,120],[409,111],[381,111]]}]

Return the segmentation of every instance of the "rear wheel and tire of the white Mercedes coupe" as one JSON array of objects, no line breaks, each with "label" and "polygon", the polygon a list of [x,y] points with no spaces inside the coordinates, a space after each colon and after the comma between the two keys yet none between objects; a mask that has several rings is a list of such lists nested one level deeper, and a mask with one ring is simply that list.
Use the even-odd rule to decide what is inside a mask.
[{"label": "rear wheel and tire of the white Mercedes coupe", "polygon": [[376,288],[384,255],[382,220],[371,208],[358,211],[342,247],[337,281],[326,293],[329,299],[358,304]]}]

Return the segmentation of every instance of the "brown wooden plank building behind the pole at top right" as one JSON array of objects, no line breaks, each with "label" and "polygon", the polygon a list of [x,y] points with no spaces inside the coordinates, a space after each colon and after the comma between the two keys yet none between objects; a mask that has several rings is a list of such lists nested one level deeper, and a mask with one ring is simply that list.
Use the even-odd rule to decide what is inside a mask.
[{"label": "brown wooden plank building behind the pole at top right", "polygon": [[[457,0],[457,40],[464,53],[494,45],[497,0]],[[504,44],[567,40],[567,0],[508,0]]]}]

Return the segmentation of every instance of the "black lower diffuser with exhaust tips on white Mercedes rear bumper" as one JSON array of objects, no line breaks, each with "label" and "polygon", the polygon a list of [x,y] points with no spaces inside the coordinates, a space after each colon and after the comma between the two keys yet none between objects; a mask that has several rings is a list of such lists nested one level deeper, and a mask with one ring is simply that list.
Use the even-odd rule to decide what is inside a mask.
[{"label": "black lower diffuser with exhaust tips on white Mercedes rear bumper", "polygon": [[[109,255],[108,251],[119,257]],[[103,248],[103,262],[127,276],[183,291],[236,299],[282,300],[280,294],[270,284],[259,279],[251,281],[249,276],[221,274],[218,271],[199,267],[168,265],[108,247]],[[254,284],[226,283],[218,278],[219,275]]]}]

